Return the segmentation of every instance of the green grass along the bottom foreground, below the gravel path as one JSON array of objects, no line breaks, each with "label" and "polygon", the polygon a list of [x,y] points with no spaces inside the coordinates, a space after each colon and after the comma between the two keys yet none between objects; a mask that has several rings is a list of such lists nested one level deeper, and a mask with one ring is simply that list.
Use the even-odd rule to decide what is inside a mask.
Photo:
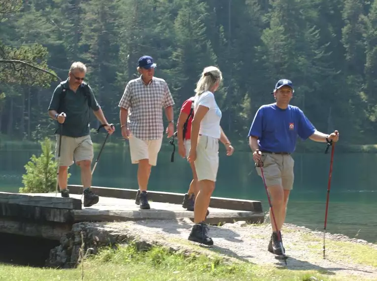
[{"label": "green grass along the bottom foreground, below the gravel path", "polygon": [[[69,270],[0,265],[3,281],[81,280],[81,267]],[[84,279],[90,281],[346,281],[317,271],[296,271],[245,262],[229,263],[221,257],[184,256],[161,247],[139,252],[134,246],[104,248],[84,263]],[[354,280],[354,277],[349,280]],[[358,279],[362,280],[362,279]]]}]

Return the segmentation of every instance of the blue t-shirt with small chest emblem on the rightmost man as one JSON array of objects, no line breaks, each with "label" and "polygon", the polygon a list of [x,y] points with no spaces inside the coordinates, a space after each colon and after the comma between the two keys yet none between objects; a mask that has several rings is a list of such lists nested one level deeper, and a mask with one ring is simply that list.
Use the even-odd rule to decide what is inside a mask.
[{"label": "blue t-shirt with small chest emblem on the rightmost man", "polygon": [[281,109],[271,104],[259,107],[248,137],[258,137],[260,150],[292,153],[297,136],[306,140],[314,131],[315,127],[299,107],[288,105]]}]

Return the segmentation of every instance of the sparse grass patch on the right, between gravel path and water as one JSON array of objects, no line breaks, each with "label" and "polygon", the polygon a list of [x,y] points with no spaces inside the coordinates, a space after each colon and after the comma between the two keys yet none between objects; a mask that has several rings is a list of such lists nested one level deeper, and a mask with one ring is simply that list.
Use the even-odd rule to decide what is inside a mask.
[{"label": "sparse grass patch on the right, between gravel path and water", "polygon": [[[323,251],[323,239],[311,234],[303,234],[308,248],[315,253]],[[353,263],[377,267],[377,249],[368,245],[356,244],[346,241],[326,239],[326,257],[332,260],[348,257]]]}]

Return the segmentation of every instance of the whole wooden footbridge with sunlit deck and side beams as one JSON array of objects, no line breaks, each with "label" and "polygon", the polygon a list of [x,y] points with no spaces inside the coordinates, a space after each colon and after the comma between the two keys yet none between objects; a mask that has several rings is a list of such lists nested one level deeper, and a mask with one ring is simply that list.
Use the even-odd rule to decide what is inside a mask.
[{"label": "whole wooden footbridge with sunlit deck and side beams", "polygon": [[[194,212],[182,208],[180,193],[149,191],[151,209],[140,210],[135,204],[134,189],[93,187],[100,201],[89,208],[82,206],[82,186],[69,186],[69,190],[70,198],[55,192],[0,192],[0,232],[60,240],[74,223],[82,221],[194,219]],[[259,201],[213,197],[208,211],[209,224],[264,221]]]}]

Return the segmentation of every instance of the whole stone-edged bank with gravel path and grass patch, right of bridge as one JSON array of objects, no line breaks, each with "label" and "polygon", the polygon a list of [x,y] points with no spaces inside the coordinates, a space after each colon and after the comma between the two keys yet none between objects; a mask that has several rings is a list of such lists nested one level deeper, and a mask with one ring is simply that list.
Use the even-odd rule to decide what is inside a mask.
[{"label": "whole stone-edged bank with gravel path and grass patch, right of bridge", "polygon": [[[61,239],[61,245],[50,251],[48,266],[76,267],[78,250],[83,233],[85,249],[96,254],[109,246],[121,248],[135,245],[140,251],[152,247],[164,247],[174,254],[185,256],[220,256],[229,263],[246,262],[258,266],[281,268],[284,263],[267,251],[271,224],[247,224],[244,221],[209,226],[209,236],[214,246],[200,246],[187,240],[193,223],[189,219],[143,220],[127,222],[76,223],[72,231]],[[322,257],[323,233],[294,224],[284,224],[282,237],[287,269],[315,270],[335,277],[377,279],[377,262],[371,257],[377,254],[377,244],[326,233],[326,259]],[[346,251],[346,253],[344,253]],[[343,252],[343,254],[342,254]],[[340,266],[343,264],[343,266]]]}]

